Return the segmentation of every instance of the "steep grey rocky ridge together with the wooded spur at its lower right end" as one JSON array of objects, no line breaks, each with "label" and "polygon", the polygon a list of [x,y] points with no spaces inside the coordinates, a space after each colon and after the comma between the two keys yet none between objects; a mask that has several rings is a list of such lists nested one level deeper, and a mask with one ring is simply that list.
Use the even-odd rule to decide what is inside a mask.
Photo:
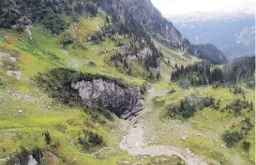
[{"label": "steep grey rocky ridge together with the wooded spur at its lower right end", "polygon": [[[162,17],[156,7],[153,7],[149,0],[132,0],[124,1],[105,1],[102,7],[107,7],[106,10],[112,13],[113,18],[117,20],[125,20],[128,22],[137,22],[142,25],[147,33],[151,34],[158,42],[167,46],[168,48],[177,48],[186,50],[188,48],[195,48],[191,45],[187,38],[184,38],[178,30],[173,26],[173,23],[167,21]],[[111,6],[110,6],[111,4]],[[134,26],[134,24],[132,24]],[[205,49],[201,51],[200,57],[213,60],[215,63],[226,62],[225,55],[216,47],[200,46],[198,49]],[[208,49],[209,48],[209,49]],[[218,52],[218,53],[212,53]],[[194,52],[192,55],[198,55]]]}]

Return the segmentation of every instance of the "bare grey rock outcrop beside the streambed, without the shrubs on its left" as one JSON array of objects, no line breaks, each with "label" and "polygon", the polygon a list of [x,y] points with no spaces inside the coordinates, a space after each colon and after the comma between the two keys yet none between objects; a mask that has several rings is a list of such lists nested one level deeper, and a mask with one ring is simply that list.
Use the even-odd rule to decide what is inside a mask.
[{"label": "bare grey rock outcrop beside the streambed, without the shrubs on its left", "polygon": [[141,91],[138,87],[121,87],[114,82],[94,79],[71,84],[83,103],[89,107],[103,106],[117,117],[128,118],[142,110]]}]

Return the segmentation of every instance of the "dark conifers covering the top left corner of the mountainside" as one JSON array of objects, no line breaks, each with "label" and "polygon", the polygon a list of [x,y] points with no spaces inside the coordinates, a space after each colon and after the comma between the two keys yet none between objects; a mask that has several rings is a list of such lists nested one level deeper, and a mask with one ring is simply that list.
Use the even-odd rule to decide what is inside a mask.
[{"label": "dark conifers covering the top left corner of the mountainside", "polygon": [[95,16],[98,7],[94,0],[3,0],[0,2],[0,28],[18,26],[19,30],[31,22],[40,22],[53,34],[67,26],[63,14]]}]

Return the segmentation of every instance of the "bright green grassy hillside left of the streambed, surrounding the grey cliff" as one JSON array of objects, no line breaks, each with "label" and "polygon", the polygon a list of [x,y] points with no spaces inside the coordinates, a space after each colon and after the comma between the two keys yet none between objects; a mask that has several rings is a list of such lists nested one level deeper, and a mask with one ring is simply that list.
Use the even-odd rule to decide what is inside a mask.
[{"label": "bright green grassy hillside left of the streambed, surrounding the grey cliff", "polygon": [[[110,62],[110,55],[115,49],[113,40],[106,39],[99,43],[84,41],[89,34],[98,32],[104,21],[101,17],[81,18],[58,35],[34,24],[29,28],[33,40],[25,32],[0,30],[0,164],[5,163],[6,158],[20,146],[31,149],[36,145],[45,149],[48,155],[46,164],[63,164],[64,161],[68,164],[101,164],[102,161],[116,164],[122,160],[136,162],[118,147],[126,133],[119,127],[122,125],[120,119],[114,117],[111,121],[94,110],[58,103],[39,88],[36,81],[38,73],[66,67],[84,73],[123,78],[128,84],[142,85],[145,82],[142,76],[129,76]],[[73,27],[76,27],[76,31],[73,31]],[[65,34],[74,39],[68,47],[61,44]],[[116,37],[122,39],[122,36]],[[141,68],[136,63],[135,71]],[[84,129],[98,132],[103,137],[104,146],[99,150],[96,148],[97,152],[83,151],[78,143],[79,134]],[[46,144],[44,131],[50,132],[52,146]]]}]

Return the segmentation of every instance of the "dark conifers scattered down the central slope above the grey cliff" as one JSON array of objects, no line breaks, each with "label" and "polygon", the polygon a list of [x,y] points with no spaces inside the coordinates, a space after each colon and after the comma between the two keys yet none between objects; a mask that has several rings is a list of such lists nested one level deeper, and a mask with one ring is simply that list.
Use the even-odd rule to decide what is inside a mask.
[{"label": "dark conifers scattered down the central slope above the grey cliff", "polygon": [[[119,50],[112,55],[111,60],[116,66],[118,66],[118,62],[123,63],[123,67],[130,74],[133,68],[129,63],[129,59],[137,58],[143,68],[150,72],[148,77],[150,79],[158,79],[160,72],[157,75],[155,74],[156,77],[154,77],[150,68],[158,68],[161,52],[155,47],[151,34],[147,33],[143,25],[137,22],[132,14],[125,14],[123,19],[118,16],[117,13],[112,13],[112,25],[105,25],[107,31],[105,30],[103,34],[123,35],[125,40],[128,38],[129,42],[124,44],[123,41],[116,41],[116,46],[119,47]],[[108,22],[108,19],[106,19],[106,22]]]}]

